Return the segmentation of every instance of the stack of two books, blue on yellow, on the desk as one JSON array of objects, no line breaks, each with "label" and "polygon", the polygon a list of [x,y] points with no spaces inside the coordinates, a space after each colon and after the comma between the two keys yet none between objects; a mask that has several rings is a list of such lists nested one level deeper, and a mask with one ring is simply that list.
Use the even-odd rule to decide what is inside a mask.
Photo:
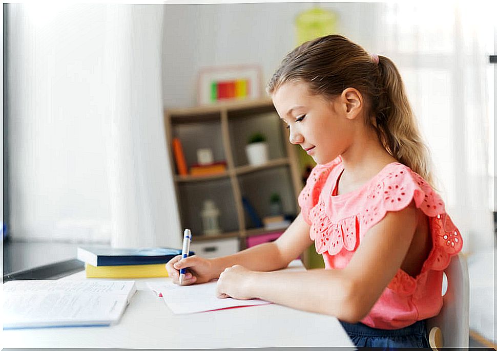
[{"label": "stack of two books, blue on yellow, on the desk", "polygon": [[[190,251],[189,256],[193,254]],[[180,249],[84,246],[77,250],[77,259],[85,262],[87,278],[167,277],[165,264],[177,255],[181,255]]]}]

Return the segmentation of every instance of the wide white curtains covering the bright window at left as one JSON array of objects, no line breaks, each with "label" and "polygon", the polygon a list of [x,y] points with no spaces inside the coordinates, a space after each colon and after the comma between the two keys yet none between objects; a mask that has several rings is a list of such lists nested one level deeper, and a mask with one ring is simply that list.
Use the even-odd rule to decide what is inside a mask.
[{"label": "wide white curtains covering the bright window at left", "polygon": [[7,6],[12,238],[180,247],[162,5]]}]

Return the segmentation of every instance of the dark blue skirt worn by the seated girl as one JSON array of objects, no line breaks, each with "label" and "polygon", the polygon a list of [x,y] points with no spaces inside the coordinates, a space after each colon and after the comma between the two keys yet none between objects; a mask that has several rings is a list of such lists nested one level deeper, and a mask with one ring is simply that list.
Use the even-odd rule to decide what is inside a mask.
[{"label": "dark blue skirt worn by the seated girl", "polygon": [[357,347],[430,347],[424,320],[394,330],[371,328],[361,322],[340,323]]}]

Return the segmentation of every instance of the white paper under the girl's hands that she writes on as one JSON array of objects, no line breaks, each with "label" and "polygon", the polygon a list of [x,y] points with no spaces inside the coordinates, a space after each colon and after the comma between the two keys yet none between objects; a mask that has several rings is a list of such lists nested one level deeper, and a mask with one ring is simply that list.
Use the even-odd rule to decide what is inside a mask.
[{"label": "white paper under the girl's hands that she writes on", "polygon": [[206,312],[238,306],[271,303],[259,299],[237,300],[231,297],[218,298],[216,296],[215,281],[190,286],[178,286],[172,281],[161,283],[149,282],[148,286],[156,294],[162,294],[164,302],[175,314]]}]

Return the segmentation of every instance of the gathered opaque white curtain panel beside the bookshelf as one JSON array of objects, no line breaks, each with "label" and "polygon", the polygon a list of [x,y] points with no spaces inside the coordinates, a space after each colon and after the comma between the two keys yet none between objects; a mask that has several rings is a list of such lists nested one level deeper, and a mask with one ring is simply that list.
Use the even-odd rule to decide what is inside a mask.
[{"label": "gathered opaque white curtain panel beside the bookshelf", "polygon": [[107,166],[115,247],[180,246],[162,118],[162,6],[107,5]]}]

